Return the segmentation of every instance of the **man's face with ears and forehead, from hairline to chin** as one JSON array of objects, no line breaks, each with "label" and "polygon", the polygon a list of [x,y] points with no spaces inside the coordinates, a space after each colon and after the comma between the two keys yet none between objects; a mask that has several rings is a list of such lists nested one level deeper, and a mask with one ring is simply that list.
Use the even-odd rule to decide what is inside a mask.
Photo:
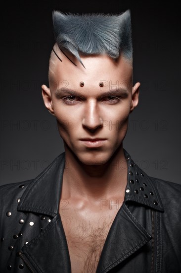
[{"label": "man's face with ears and forehead, from hairline to chin", "polygon": [[[56,117],[65,150],[84,164],[103,164],[126,135],[129,114],[138,103],[139,83],[132,86],[132,67],[122,57],[115,62],[106,55],[81,56],[85,69],[73,55],[66,53],[77,67],[60,50],[56,53],[62,62],[51,58],[49,88],[42,86],[45,106]],[[104,141],[96,146],[83,138]]]}]

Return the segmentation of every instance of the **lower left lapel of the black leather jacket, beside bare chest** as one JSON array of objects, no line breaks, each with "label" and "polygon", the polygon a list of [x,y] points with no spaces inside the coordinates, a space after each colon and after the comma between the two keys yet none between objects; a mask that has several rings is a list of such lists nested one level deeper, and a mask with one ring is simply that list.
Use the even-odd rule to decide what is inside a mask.
[{"label": "lower left lapel of the black leather jacket, beside bare chest", "polygon": [[22,252],[38,272],[71,273],[67,241],[59,214],[51,220],[41,235],[22,248]]}]

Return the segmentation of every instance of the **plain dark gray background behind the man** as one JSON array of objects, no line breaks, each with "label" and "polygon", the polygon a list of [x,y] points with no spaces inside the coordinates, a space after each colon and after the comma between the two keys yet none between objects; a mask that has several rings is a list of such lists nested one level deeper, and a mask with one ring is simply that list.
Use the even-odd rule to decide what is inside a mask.
[{"label": "plain dark gray background behind the man", "polygon": [[64,151],[46,110],[54,44],[51,12],[131,10],[134,82],[139,105],[124,140],[135,162],[154,177],[181,183],[180,8],[176,1],[15,1],[1,15],[0,185],[36,177]]}]

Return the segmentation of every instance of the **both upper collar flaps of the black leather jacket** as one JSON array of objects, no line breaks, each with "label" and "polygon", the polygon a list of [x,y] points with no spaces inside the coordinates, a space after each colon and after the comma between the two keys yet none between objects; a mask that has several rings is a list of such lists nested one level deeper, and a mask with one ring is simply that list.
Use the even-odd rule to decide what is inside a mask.
[{"label": "both upper collar flaps of the black leather jacket", "polygon": [[[128,165],[128,182],[125,203],[134,202],[164,211],[159,192],[150,177],[132,160],[124,149]],[[59,213],[59,201],[65,168],[65,152],[58,155],[45,170],[27,187],[17,206],[18,211],[32,211],[55,216]]]}]

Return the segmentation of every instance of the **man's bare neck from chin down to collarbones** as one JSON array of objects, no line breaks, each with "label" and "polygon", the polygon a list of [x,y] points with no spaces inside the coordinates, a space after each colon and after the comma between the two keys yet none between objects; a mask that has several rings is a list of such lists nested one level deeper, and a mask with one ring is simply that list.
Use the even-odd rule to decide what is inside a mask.
[{"label": "man's bare neck from chin down to collarbones", "polygon": [[66,146],[62,195],[65,199],[89,200],[123,197],[127,185],[127,163],[121,144],[102,165],[86,165]]}]

